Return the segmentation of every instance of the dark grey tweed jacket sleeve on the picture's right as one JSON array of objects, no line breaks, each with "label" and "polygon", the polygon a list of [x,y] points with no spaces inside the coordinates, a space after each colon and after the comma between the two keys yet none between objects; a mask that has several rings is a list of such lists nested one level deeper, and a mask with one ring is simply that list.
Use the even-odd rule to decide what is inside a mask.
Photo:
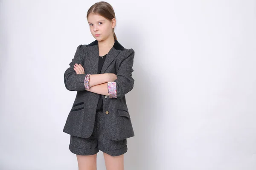
[{"label": "dark grey tweed jacket sleeve on the picture's right", "polygon": [[108,83],[116,87],[116,97],[114,98],[123,98],[125,94],[127,94],[134,87],[134,79],[132,78],[132,72],[134,71],[132,66],[134,63],[134,50],[131,48],[128,50],[128,54],[123,59],[121,64],[119,65],[119,69],[116,73],[117,79],[114,82],[116,83]]}]

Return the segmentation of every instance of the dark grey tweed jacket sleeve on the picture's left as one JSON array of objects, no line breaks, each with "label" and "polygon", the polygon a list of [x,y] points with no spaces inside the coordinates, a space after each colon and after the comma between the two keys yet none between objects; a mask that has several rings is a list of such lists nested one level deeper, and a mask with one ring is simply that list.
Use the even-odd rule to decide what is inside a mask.
[{"label": "dark grey tweed jacket sleeve on the picture's left", "polygon": [[82,45],[76,48],[76,53],[72,62],[70,62],[70,67],[64,72],[64,84],[69,91],[84,91],[84,79],[86,74],[76,74],[74,70],[75,64],[84,65],[84,55]]}]

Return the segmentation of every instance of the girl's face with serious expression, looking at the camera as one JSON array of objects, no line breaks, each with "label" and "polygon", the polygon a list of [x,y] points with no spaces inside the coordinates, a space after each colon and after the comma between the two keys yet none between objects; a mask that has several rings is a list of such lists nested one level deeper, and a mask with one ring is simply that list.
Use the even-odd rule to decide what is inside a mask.
[{"label": "girl's face with serious expression, looking at the camera", "polygon": [[116,19],[113,18],[112,22],[98,14],[89,14],[87,17],[90,26],[90,32],[93,37],[98,40],[106,40],[108,37],[113,37],[113,28],[116,26]]}]

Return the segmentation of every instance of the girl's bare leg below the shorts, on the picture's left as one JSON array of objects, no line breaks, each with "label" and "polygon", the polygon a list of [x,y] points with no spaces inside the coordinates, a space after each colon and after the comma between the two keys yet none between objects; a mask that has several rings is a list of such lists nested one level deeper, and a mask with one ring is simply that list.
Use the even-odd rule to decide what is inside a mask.
[{"label": "girl's bare leg below the shorts, on the picture's left", "polygon": [[97,153],[94,155],[76,155],[79,170],[97,170]]}]

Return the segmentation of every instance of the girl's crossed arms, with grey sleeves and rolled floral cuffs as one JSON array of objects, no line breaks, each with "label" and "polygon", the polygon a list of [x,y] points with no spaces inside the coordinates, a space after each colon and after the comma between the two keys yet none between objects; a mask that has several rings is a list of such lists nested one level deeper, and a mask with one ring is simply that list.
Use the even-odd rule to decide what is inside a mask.
[{"label": "girl's crossed arms, with grey sleeves and rolled floral cuffs", "polygon": [[[116,75],[112,73],[90,74],[90,83],[86,83],[88,74],[84,74],[84,53],[86,49],[79,45],[76,54],[70,62],[70,67],[64,73],[64,84],[69,91],[91,91],[114,98],[123,98],[134,87],[132,72],[134,71],[134,50],[131,48],[119,64]],[[80,67],[78,67],[80,65]],[[76,69],[75,69],[76,66]],[[79,71],[80,70],[80,71]],[[76,72],[79,71],[79,74]],[[86,84],[89,88],[86,88]],[[88,86],[87,86],[88,87]]]}]

